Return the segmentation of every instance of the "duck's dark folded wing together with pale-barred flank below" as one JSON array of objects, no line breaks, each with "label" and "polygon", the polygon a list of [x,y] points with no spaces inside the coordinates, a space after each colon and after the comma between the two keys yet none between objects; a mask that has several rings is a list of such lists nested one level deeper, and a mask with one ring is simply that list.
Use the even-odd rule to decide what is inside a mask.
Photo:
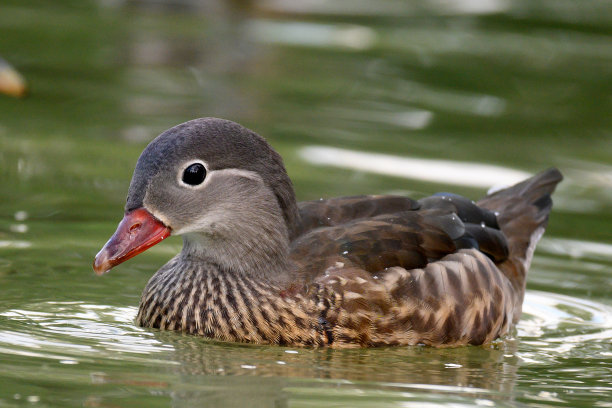
[{"label": "duck's dark folded wing together with pale-barred flank below", "polygon": [[515,297],[495,264],[508,256],[495,215],[458,196],[418,206],[293,242],[331,345],[481,344],[507,331]]}]

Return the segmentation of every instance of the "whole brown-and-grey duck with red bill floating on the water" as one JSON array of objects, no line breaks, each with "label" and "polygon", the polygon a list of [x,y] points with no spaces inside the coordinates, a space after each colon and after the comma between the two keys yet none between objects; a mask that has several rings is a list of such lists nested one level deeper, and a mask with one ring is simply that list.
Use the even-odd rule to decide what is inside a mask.
[{"label": "whole brown-and-grey duck with red bill floating on the water", "polygon": [[172,233],[184,247],[145,288],[141,326],[279,345],[483,344],[520,317],[561,179],[551,169],[478,203],[452,194],[296,203],[261,137],[197,119],[145,149],[94,268]]}]

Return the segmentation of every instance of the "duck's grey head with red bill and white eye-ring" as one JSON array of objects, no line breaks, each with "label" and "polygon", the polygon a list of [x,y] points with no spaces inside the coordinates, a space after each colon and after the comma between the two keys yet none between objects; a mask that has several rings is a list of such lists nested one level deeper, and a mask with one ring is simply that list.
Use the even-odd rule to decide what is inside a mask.
[{"label": "duck's grey head with red bill and white eye-ring", "polygon": [[286,256],[297,223],[282,159],[256,133],[216,118],[175,126],[142,152],[117,231],[98,253],[101,274],[170,235],[183,253],[257,271]]}]

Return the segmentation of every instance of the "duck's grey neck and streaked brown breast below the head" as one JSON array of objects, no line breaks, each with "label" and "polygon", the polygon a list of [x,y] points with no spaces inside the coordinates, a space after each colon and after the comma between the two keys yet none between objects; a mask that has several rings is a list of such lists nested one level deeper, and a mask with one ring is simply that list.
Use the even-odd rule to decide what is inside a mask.
[{"label": "duck's grey neck and streaked brown breast below the head", "polygon": [[265,198],[231,202],[182,231],[183,250],[147,284],[137,323],[220,340],[323,342],[315,303],[292,286],[285,214]]}]

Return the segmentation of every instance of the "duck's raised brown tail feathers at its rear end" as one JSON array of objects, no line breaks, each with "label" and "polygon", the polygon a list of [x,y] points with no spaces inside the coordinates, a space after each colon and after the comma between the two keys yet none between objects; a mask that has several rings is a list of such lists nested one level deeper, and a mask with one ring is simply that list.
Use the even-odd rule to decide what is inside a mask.
[{"label": "duck's raised brown tail feathers at its rear end", "polygon": [[562,179],[559,170],[548,169],[478,202],[480,207],[496,213],[499,227],[508,240],[508,259],[498,266],[515,287],[520,303],[533,251],[544,233],[552,209],[550,196]]}]

